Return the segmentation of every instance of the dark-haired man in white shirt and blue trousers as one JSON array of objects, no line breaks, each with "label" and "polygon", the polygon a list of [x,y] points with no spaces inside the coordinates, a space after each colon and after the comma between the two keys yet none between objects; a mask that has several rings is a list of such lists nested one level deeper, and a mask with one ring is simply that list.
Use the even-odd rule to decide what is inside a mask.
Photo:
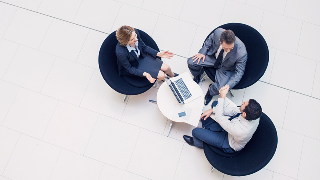
[{"label": "dark-haired man in white shirt and blue trousers", "polygon": [[[220,98],[216,107],[205,111],[202,116],[202,127],[192,130],[193,137],[184,135],[184,140],[192,146],[203,148],[203,142],[220,148],[225,153],[240,151],[249,142],[259,125],[262,108],[254,99],[242,102],[238,107],[223,107],[224,99],[229,91],[225,85],[220,90]],[[215,120],[210,115],[215,113]],[[241,114],[238,114],[241,113]],[[238,117],[229,120],[227,116]]]}]

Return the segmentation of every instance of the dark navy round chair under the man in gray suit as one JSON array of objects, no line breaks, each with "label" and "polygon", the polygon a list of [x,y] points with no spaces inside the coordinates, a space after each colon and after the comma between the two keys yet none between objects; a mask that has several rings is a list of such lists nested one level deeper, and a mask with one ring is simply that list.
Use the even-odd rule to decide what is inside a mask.
[{"label": "dark navy round chair under the man in gray suit", "polygon": [[[217,28],[232,30],[235,36],[244,43],[248,53],[244,74],[239,83],[232,89],[243,89],[253,85],[263,76],[269,63],[269,49],[263,36],[254,28],[241,23],[228,23]],[[216,29],[214,29],[206,39],[208,39]],[[213,67],[204,67],[203,69],[206,75],[214,82],[215,69]]]}]

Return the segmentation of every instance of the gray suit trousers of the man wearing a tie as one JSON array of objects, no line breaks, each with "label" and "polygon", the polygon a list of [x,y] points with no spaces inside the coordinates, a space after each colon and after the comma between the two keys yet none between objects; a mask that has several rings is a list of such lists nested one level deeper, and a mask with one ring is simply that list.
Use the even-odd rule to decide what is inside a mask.
[{"label": "gray suit trousers of the man wearing a tie", "polygon": [[[199,64],[196,64],[196,62],[193,62],[193,57],[188,58],[188,67],[191,71],[191,74],[195,77],[199,74],[202,74],[204,72],[203,67],[212,67],[214,68],[214,63],[216,59],[212,55],[206,55],[204,63],[202,62],[202,59],[200,60]],[[214,85],[210,87],[210,95],[219,95],[219,90],[222,88],[226,83],[229,81],[230,77],[228,77],[221,67],[221,64],[218,66],[218,68],[215,69],[216,75],[215,75],[215,82]]]}]

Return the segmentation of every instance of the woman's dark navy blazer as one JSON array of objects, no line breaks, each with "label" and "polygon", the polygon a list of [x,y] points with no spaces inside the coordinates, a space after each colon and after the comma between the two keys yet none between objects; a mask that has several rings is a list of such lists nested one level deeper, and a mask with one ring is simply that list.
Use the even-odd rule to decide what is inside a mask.
[{"label": "woman's dark navy blazer", "polygon": [[[140,50],[140,58],[141,56],[144,58],[146,55],[150,55],[151,57],[156,58],[158,51],[144,44],[137,29],[135,29],[135,33],[137,34],[137,38],[139,39],[138,48]],[[126,46],[122,46],[120,45],[120,42],[118,42],[115,48],[115,53],[118,58],[118,69],[120,76],[134,75],[143,77],[143,71],[137,69],[139,66],[139,63],[137,61],[138,58],[133,50],[131,50],[130,53]]]}]

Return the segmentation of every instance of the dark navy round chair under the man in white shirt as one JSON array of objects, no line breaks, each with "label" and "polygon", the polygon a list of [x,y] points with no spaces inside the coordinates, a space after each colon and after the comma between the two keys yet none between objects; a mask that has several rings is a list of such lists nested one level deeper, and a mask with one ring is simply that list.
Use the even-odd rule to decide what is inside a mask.
[{"label": "dark navy round chair under the man in white shirt", "polygon": [[203,143],[203,149],[213,168],[227,175],[244,176],[265,167],[272,159],[277,144],[275,126],[271,119],[262,113],[258,128],[241,151],[227,154],[206,143]]}]

